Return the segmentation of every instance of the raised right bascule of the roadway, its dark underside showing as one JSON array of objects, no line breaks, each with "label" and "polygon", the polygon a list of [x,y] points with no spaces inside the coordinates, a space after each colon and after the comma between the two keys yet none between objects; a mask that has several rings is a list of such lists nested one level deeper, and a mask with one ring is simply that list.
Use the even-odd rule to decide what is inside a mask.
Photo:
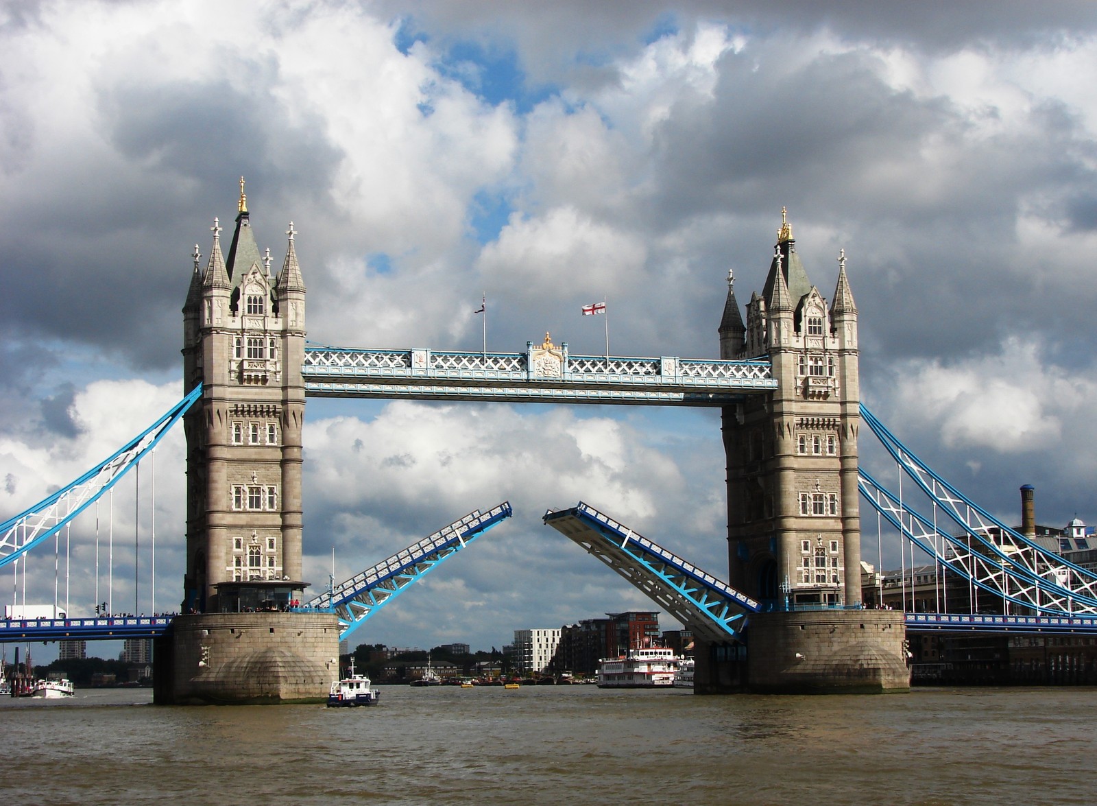
[{"label": "raised right bascule of the roadway, its dark underside showing", "polygon": [[570,510],[550,510],[544,522],[624,576],[700,638],[717,643],[743,640],[745,613],[761,611],[758,602],[726,582],[581,501]]}]

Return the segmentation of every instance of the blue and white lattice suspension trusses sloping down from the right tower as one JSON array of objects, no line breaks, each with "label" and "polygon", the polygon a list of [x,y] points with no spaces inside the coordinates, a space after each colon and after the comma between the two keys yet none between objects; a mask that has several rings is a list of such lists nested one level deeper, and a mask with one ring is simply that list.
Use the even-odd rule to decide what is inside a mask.
[{"label": "blue and white lattice suspension trusses sloping down from the right tower", "polygon": [[[1097,614],[1097,575],[1033,544],[994,518],[940,479],[909,452],[863,405],[861,416],[918,490],[934,506],[927,518],[898,493],[859,470],[861,495],[893,527],[942,566],[974,585],[1038,613]],[[901,477],[902,479],[902,477]],[[937,513],[960,527],[938,528]]]}]

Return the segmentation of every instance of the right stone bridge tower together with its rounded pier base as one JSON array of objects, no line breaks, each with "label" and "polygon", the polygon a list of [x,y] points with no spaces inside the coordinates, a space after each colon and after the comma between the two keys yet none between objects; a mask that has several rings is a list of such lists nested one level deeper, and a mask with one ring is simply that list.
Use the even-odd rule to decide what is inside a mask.
[{"label": "right stone bridge tower together with its rounded pier base", "polygon": [[828,302],[782,210],[766,284],[746,310],[744,325],[730,276],[721,358],[768,357],[779,382],[722,411],[730,581],[771,608],[750,620],[747,687],[907,689],[902,614],[860,609],[857,306],[845,250]]}]

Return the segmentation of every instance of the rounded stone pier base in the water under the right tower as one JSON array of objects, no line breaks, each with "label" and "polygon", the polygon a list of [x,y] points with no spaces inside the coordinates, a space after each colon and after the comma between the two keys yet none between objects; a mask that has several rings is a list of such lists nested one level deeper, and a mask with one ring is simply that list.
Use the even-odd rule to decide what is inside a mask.
[{"label": "rounded stone pier base in the water under the right tower", "polygon": [[897,611],[805,611],[750,616],[747,691],[887,694],[911,690]]}]

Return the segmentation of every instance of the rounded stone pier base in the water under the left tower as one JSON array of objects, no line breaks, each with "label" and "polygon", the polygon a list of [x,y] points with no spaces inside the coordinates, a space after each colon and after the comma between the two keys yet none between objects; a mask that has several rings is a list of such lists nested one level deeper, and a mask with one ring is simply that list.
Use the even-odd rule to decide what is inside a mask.
[{"label": "rounded stone pier base in the water under the left tower", "polygon": [[339,678],[339,622],[329,613],[177,616],[154,657],[159,704],[325,702]]}]

